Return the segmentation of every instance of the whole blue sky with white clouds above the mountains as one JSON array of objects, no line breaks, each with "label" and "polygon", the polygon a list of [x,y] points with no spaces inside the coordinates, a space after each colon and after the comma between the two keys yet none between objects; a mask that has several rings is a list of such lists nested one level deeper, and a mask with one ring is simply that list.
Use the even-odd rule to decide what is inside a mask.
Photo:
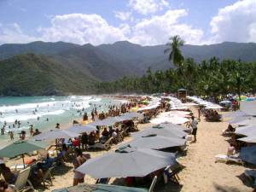
[{"label": "whole blue sky with white clouds above the mountains", "polygon": [[0,0],[0,44],[256,42],[256,0]]}]

